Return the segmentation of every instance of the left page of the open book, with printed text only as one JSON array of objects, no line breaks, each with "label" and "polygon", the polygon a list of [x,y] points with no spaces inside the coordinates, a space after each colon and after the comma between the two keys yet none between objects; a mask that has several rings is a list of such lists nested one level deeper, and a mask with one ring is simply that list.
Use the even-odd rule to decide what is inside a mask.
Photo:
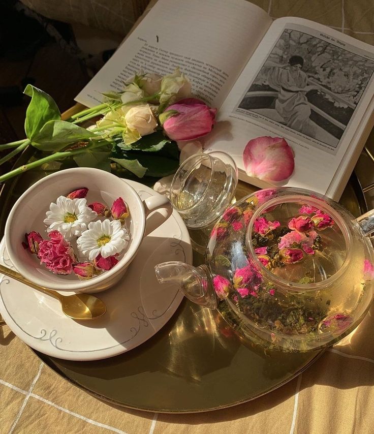
[{"label": "left page of the open book, with printed text only", "polygon": [[180,67],[193,92],[220,107],[256,49],[270,17],[243,0],[159,0],[76,101],[102,102],[140,70],[171,73]]}]

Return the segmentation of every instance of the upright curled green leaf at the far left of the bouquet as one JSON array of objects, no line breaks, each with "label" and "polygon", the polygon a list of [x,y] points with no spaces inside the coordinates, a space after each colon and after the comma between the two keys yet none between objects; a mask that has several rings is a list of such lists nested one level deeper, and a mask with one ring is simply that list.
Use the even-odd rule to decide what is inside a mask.
[{"label": "upright curled green leaf at the far left of the bouquet", "polygon": [[27,84],[24,94],[31,97],[26,110],[25,133],[27,138],[33,141],[46,122],[61,119],[61,114],[53,98],[43,90]]}]

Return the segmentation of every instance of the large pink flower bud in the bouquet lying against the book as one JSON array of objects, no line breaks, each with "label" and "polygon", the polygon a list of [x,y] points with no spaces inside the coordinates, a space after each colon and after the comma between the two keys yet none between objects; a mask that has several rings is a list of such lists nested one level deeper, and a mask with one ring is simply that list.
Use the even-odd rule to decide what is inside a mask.
[{"label": "large pink flower bud in the bouquet lying against the book", "polygon": [[[210,133],[216,112],[201,100],[185,98],[169,106],[160,115],[160,121],[170,139],[194,140]],[[169,114],[171,117],[167,118]],[[163,121],[163,118],[167,119]]]}]

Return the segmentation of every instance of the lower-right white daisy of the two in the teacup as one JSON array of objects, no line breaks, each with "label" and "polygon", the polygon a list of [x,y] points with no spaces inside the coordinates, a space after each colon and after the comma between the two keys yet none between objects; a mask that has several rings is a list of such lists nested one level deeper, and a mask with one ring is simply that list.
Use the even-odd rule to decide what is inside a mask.
[{"label": "lower-right white daisy of the two in the teacup", "polygon": [[91,222],[77,239],[79,251],[93,261],[99,253],[103,258],[122,252],[130,236],[119,220]]}]

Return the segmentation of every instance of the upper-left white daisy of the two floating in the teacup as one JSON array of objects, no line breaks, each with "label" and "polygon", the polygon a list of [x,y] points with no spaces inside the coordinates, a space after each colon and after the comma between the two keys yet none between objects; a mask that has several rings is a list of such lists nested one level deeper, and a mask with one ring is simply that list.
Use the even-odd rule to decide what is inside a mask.
[{"label": "upper-left white daisy of the two floating in the teacup", "polygon": [[51,203],[44,224],[47,232],[58,231],[66,240],[79,236],[98,214],[88,208],[86,199],[68,199],[60,196],[56,203]]}]

